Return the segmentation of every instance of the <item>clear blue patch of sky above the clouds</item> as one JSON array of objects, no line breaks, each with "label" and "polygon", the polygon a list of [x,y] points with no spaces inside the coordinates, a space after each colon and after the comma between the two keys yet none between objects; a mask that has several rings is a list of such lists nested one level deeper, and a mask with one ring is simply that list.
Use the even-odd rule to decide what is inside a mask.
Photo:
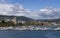
[{"label": "clear blue patch of sky above the clouds", "polygon": [[8,3],[19,3],[28,9],[40,9],[40,8],[60,8],[60,0],[9,0]]}]

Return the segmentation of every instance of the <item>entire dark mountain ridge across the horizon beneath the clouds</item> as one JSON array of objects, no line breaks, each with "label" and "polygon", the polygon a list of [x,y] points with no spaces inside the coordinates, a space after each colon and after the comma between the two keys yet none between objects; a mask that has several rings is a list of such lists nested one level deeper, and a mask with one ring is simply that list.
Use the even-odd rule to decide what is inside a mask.
[{"label": "entire dark mountain ridge across the horizon beneath the clouds", "polygon": [[29,18],[29,17],[25,17],[25,16],[14,16],[14,15],[0,15],[0,20],[1,19],[5,19],[5,18],[9,18],[9,19],[12,19],[13,17],[16,17],[16,19],[18,21],[40,21],[40,22],[60,22],[60,18],[57,18],[57,19],[32,19],[32,18]]}]

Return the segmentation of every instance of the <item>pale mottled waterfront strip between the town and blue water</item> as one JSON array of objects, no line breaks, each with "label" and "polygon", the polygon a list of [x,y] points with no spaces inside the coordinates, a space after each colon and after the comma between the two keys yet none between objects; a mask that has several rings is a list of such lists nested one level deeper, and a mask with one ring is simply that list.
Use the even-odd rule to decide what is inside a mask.
[{"label": "pale mottled waterfront strip between the town and blue water", "polygon": [[59,26],[17,26],[0,27],[0,30],[60,30]]}]

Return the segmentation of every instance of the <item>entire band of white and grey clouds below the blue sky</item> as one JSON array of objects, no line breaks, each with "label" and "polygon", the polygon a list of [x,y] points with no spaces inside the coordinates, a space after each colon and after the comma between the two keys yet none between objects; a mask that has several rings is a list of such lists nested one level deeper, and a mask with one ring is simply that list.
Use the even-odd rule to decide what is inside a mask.
[{"label": "entire band of white and grey clouds below the blue sky", "polygon": [[40,9],[33,11],[24,8],[20,4],[0,4],[0,14],[2,15],[17,15],[26,16],[34,19],[48,19],[48,18],[59,18],[60,9]]}]

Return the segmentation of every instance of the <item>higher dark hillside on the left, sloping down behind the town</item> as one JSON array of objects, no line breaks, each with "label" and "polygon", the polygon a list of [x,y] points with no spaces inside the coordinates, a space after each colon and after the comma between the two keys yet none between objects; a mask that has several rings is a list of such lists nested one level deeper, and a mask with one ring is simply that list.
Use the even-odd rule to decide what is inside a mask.
[{"label": "higher dark hillside on the left, sloping down behind the town", "polygon": [[0,20],[4,19],[12,19],[13,17],[16,17],[17,21],[33,21],[34,19],[28,18],[25,16],[7,16],[7,15],[0,15]]}]

